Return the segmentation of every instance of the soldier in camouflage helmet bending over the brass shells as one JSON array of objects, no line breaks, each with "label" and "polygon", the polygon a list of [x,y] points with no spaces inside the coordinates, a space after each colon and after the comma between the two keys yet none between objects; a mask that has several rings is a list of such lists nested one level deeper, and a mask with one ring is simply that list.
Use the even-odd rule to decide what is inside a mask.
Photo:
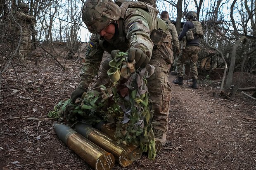
[{"label": "soldier in camouflage helmet bending over the brass shells", "polygon": [[[155,8],[144,2],[123,1],[119,7],[112,0],[87,0],[82,12],[83,22],[93,34],[86,50],[81,82],[71,94],[72,101],[81,97],[93,82],[104,51],[127,51],[128,62],[135,60],[136,69],[147,64],[155,67],[154,74],[147,80],[147,87],[154,106],[154,136],[165,144],[171,100],[168,74],[173,63],[168,25],[156,17],[158,11]],[[109,82],[107,70],[111,60],[109,55],[103,62],[96,87]]]}]

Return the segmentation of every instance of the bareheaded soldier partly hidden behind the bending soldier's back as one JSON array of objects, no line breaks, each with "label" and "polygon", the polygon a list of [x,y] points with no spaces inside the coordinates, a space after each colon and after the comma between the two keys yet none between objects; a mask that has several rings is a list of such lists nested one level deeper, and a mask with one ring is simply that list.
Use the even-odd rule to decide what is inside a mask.
[{"label": "bareheaded soldier partly hidden behind the bending soldier's back", "polygon": [[161,12],[161,19],[164,20],[168,24],[169,31],[172,35],[172,43],[173,43],[173,46],[175,47],[175,53],[179,54],[180,53],[180,44],[179,44],[179,39],[178,39],[178,33],[175,28],[175,25],[173,23],[171,23],[171,21],[169,20],[169,14],[167,11]]}]

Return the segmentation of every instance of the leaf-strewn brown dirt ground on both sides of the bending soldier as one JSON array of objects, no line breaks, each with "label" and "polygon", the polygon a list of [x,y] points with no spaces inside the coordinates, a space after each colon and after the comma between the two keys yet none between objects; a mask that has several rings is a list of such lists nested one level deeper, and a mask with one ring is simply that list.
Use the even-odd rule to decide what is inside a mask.
[{"label": "leaf-strewn brown dirt ground on both sides of the bending soldier", "polygon": [[[66,70],[50,56],[16,60],[15,70],[10,67],[3,74],[0,170],[91,169],[57,138],[57,120],[46,116],[59,101],[70,98],[79,82],[81,65],[59,62]],[[234,77],[241,79],[239,74]],[[174,78],[170,76],[170,82]],[[242,87],[255,87],[256,76],[242,78]],[[183,87],[172,85],[167,144],[154,161],[143,154],[130,166],[115,163],[113,169],[256,170],[256,100],[242,91],[232,101],[225,99],[219,96],[220,83],[202,77],[197,90],[186,80]]]}]

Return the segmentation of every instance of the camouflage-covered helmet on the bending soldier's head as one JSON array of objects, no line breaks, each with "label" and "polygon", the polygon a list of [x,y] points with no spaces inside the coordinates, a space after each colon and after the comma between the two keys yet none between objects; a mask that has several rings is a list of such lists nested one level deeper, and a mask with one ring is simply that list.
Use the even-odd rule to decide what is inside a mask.
[{"label": "camouflage-covered helmet on the bending soldier's head", "polygon": [[87,0],[83,5],[83,22],[91,33],[100,32],[120,16],[121,9],[112,0]]}]

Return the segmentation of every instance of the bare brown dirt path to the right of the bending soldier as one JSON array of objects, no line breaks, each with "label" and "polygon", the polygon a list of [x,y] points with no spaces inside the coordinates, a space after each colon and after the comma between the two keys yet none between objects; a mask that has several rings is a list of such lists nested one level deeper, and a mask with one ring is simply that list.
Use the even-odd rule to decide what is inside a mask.
[{"label": "bare brown dirt path to the right of the bending soldier", "polygon": [[[171,76],[170,80],[175,77]],[[216,90],[172,86],[168,143],[155,162],[144,159],[138,170],[256,169],[256,106],[213,97]],[[131,168],[132,169],[132,168]]]}]

